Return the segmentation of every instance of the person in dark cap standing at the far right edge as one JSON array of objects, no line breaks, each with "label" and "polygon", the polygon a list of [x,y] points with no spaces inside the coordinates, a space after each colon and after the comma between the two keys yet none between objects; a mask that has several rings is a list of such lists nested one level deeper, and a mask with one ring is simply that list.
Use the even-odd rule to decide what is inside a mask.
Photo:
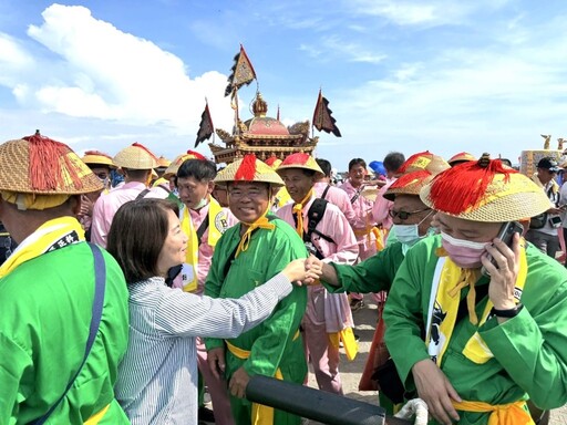
[{"label": "person in dark cap standing at the far right edge", "polygon": [[526,239],[534,243],[542,252],[555,258],[559,249],[559,238],[557,229],[561,226],[559,204],[559,185],[555,180],[557,173],[561,168],[554,158],[542,158],[537,163],[537,173],[532,176],[532,180],[544,190],[549,198],[551,206],[532,220]]}]

